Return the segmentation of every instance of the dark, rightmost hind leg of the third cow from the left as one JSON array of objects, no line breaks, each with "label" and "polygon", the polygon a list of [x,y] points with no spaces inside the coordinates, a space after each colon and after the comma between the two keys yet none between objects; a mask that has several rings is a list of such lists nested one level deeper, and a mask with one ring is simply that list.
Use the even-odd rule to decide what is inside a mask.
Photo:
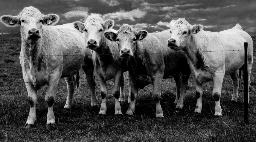
[{"label": "dark, rightmost hind leg of the third cow from the left", "polygon": [[190,73],[188,75],[182,76],[182,78],[181,78],[180,97],[179,97],[178,103],[176,105],[176,109],[182,109],[184,106],[184,99],[185,99],[185,94],[186,94],[187,87],[188,87],[189,77],[190,77]]}]

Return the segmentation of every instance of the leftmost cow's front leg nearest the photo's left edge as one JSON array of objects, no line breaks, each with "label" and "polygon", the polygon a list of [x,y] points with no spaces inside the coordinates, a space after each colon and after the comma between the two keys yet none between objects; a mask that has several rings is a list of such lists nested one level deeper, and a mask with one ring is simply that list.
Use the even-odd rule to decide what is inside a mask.
[{"label": "leftmost cow's front leg nearest the photo's left edge", "polygon": [[[24,78],[24,77],[23,77]],[[32,83],[27,83],[28,80],[24,79],[26,88],[28,91],[28,101],[30,105],[29,115],[27,122],[25,124],[26,128],[30,128],[31,125],[34,125],[36,121],[36,102],[37,102],[37,96],[36,96],[36,89]]]}]

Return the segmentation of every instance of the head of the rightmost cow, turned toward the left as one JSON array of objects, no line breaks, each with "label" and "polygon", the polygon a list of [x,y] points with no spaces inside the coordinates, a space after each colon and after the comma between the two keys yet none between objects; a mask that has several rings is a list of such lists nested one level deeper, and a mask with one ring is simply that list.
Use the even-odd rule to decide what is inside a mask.
[{"label": "head of the rightmost cow, turned toward the left", "polygon": [[187,47],[191,40],[192,34],[197,34],[203,29],[202,25],[191,26],[185,19],[179,18],[172,20],[169,24],[171,38],[167,41],[167,45],[174,50],[182,50]]}]

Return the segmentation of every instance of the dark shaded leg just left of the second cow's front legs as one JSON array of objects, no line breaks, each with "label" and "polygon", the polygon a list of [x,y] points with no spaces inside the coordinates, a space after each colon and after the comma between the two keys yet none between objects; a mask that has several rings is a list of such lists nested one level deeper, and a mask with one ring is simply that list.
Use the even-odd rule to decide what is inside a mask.
[{"label": "dark shaded leg just left of the second cow's front legs", "polygon": [[95,93],[96,83],[95,83],[95,80],[93,78],[94,66],[93,66],[93,64],[90,64],[90,65],[88,64],[86,66],[83,65],[82,68],[83,68],[83,71],[85,72],[86,80],[87,80],[87,83],[88,83],[89,88],[90,88],[91,93],[92,93],[91,108],[96,108],[96,107],[98,107],[98,99],[97,99],[97,96],[96,96],[96,93]]}]

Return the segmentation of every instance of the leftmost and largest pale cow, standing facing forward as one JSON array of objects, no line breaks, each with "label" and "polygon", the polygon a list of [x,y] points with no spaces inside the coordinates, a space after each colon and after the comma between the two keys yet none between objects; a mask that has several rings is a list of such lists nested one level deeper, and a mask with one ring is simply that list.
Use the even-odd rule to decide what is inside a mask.
[{"label": "leftmost and largest pale cow, standing facing forward", "polygon": [[[48,85],[45,95],[48,105],[46,123],[47,126],[55,124],[53,104],[60,78],[65,78],[68,87],[68,97],[64,108],[71,108],[75,85],[79,86],[79,69],[83,64],[84,55],[92,55],[92,51],[85,48],[84,35],[76,29],[78,27],[75,23],[47,26],[56,24],[59,16],[56,14],[42,15],[34,7],[25,7],[18,16],[4,15],[0,19],[8,27],[20,25],[22,36],[20,64],[30,104],[25,126],[30,127],[36,120],[37,90],[45,84]],[[88,58],[86,56],[86,59]],[[86,60],[83,69],[90,65],[89,62],[85,63]],[[93,73],[87,74],[86,78],[89,78],[88,82],[91,82],[90,78],[93,78]],[[95,85],[92,85],[93,83],[89,83],[92,92],[95,92],[93,90]]]}]

